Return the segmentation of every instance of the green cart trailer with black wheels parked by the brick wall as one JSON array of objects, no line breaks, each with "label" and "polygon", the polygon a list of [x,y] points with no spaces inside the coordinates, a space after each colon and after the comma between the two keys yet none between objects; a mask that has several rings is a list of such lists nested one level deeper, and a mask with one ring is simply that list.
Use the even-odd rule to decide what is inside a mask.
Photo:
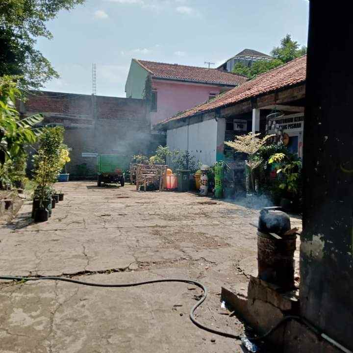
[{"label": "green cart trailer with black wheels parked by the brick wall", "polygon": [[126,160],[124,154],[99,154],[97,156],[97,185],[120,183],[124,186]]}]

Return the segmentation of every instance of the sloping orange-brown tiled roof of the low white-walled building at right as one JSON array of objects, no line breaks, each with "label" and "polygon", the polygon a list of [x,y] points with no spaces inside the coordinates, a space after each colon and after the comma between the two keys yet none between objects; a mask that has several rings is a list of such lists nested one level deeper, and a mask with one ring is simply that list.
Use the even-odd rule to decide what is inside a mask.
[{"label": "sloping orange-brown tiled roof of the low white-walled building at right", "polygon": [[212,101],[199,104],[175,117],[166,119],[160,124],[166,124],[172,120],[178,120],[212,111],[217,108],[233,105],[237,102],[273,92],[283,87],[292,86],[304,82],[305,77],[306,55],[261,74],[252,80],[243,83],[239,87],[235,87],[230,91],[217,96]]}]

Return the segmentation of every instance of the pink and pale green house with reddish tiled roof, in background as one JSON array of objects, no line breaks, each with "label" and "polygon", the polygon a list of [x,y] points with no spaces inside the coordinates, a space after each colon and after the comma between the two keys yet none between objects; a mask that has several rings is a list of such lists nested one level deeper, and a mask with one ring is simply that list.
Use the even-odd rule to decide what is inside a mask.
[{"label": "pink and pale green house with reddish tiled roof, in background", "polygon": [[152,80],[151,125],[228,91],[246,78],[223,70],[132,59],[126,98],[143,98],[147,76]]}]

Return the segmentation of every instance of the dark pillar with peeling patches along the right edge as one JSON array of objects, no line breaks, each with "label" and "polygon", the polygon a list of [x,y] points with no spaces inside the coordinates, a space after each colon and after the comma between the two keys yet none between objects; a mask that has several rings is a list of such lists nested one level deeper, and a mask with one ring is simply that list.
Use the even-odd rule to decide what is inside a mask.
[{"label": "dark pillar with peeling patches along the right edge", "polygon": [[353,350],[351,1],[310,1],[301,313]]}]

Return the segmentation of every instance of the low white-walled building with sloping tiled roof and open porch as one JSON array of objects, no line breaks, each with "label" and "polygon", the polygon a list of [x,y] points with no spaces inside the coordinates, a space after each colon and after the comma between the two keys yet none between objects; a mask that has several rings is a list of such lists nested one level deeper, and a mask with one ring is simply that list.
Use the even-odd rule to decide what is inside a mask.
[{"label": "low white-walled building with sloping tiled roof and open porch", "polygon": [[[305,78],[306,56],[302,56],[155,128],[166,131],[170,150],[188,150],[208,165],[235,161],[237,154],[224,141],[251,131],[272,134],[280,130],[288,149],[302,157]],[[274,111],[281,111],[281,116],[274,117]]]}]

